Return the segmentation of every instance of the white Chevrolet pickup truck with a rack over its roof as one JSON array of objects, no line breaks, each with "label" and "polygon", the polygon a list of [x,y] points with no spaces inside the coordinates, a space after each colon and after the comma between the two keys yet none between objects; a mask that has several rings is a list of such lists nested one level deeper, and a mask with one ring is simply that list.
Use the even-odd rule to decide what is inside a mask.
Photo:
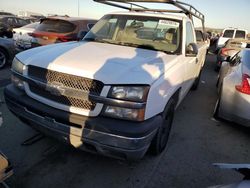
[{"label": "white Chevrolet pickup truck with a rack over its roof", "polygon": [[197,14],[166,3],[189,16],[138,6],[105,15],[83,40],[19,53],[4,91],[8,108],[90,152],[129,160],[149,148],[161,153],[175,109],[199,84],[207,50],[196,44],[189,17]]}]

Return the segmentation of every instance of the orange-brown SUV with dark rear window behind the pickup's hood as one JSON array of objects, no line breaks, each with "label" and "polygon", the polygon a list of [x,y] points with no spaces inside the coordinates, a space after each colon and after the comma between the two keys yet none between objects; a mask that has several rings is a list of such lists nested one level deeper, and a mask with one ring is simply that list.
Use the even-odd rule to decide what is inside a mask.
[{"label": "orange-brown SUV with dark rear window behind the pickup's hood", "polygon": [[32,47],[77,40],[80,31],[87,33],[96,20],[53,16],[41,19],[40,25],[32,33]]}]

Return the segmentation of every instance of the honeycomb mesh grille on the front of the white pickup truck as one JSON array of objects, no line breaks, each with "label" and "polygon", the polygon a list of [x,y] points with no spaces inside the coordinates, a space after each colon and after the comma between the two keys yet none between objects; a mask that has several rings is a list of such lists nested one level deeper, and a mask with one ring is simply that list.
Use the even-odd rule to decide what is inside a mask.
[{"label": "honeycomb mesh grille on the front of the white pickup truck", "polygon": [[[100,95],[104,84],[100,81],[80,76],[60,73],[36,66],[28,67],[28,77],[44,83],[49,87],[29,84],[30,91],[50,101],[80,109],[94,110],[96,103],[88,99],[88,94]],[[58,88],[63,88],[60,91]],[[56,91],[58,89],[58,92]],[[53,92],[52,92],[53,91]],[[79,93],[82,95],[79,96]],[[85,94],[85,95],[84,95]]]}]

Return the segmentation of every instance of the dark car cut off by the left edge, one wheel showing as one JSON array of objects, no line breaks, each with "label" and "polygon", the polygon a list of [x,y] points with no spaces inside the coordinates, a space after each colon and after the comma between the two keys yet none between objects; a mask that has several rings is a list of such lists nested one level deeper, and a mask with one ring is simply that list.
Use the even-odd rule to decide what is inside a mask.
[{"label": "dark car cut off by the left edge, one wheel showing", "polygon": [[16,54],[16,48],[12,39],[0,37],[0,68],[11,63]]}]

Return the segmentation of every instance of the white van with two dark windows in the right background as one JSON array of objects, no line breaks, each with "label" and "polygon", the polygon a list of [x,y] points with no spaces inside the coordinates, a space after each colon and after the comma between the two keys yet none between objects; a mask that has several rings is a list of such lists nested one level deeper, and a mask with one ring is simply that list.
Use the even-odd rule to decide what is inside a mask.
[{"label": "white van with two dark windows in the right background", "polygon": [[236,29],[236,28],[226,28],[223,30],[222,35],[217,42],[217,50],[222,48],[228,39],[247,39],[247,30]]}]

